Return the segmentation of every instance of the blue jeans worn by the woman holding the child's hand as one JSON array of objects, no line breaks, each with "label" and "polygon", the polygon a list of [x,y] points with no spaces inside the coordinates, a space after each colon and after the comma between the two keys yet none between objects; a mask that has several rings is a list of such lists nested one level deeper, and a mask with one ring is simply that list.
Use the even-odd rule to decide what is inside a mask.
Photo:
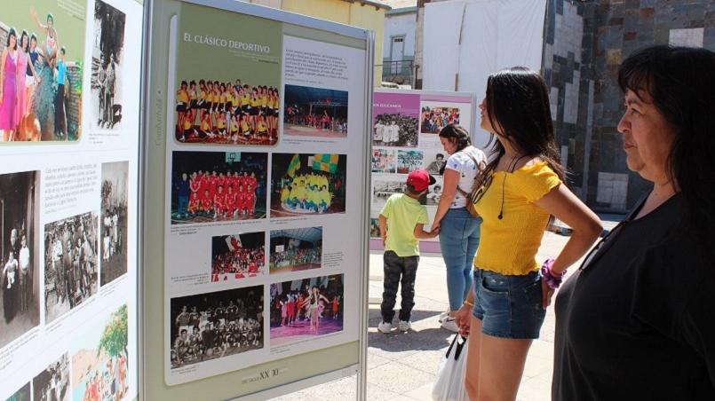
[{"label": "blue jeans worn by the woman holding the child's hand", "polygon": [[472,288],[474,254],[479,248],[481,218],[466,208],[450,208],[440,224],[440,248],[447,265],[449,311],[457,311]]}]

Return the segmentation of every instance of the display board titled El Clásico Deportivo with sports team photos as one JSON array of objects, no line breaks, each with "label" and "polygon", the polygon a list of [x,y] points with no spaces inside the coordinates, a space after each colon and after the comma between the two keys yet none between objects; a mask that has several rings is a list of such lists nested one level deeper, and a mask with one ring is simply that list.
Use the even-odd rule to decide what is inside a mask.
[{"label": "display board titled El Cl\u00e1sico Deportivo with sports team photos", "polygon": [[150,25],[145,397],[354,373],[371,33],[231,1],[155,2]]}]

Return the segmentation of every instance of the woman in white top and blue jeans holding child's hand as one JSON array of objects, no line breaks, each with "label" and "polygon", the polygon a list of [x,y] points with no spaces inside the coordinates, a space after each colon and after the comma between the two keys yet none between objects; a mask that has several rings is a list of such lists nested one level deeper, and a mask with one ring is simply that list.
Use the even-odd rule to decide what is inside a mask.
[{"label": "woman in white top and blue jeans holding child's hand", "polygon": [[466,197],[472,192],[487,157],[472,145],[469,133],[458,125],[444,127],[440,142],[449,154],[440,169],[444,186],[432,224],[433,231],[440,229],[441,254],[447,266],[449,312],[442,313],[440,321],[442,327],[457,332],[454,317],[472,288],[472,263],[479,247],[481,224],[480,218],[467,211]]}]

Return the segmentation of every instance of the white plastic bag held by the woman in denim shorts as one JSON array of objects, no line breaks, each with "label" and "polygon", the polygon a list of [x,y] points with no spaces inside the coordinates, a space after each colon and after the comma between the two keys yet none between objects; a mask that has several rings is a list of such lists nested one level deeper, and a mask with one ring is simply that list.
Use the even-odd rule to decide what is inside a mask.
[{"label": "white plastic bag held by the woman in denim shorts", "polygon": [[432,389],[434,401],[469,401],[465,389],[467,339],[455,335],[437,369]]}]

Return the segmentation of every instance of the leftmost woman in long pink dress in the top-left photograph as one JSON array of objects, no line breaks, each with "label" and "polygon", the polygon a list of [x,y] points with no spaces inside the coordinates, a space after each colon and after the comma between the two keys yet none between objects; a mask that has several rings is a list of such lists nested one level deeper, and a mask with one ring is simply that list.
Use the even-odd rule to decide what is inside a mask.
[{"label": "leftmost woman in long pink dress in the top-left photograph", "polygon": [[3,141],[12,140],[18,126],[18,34],[15,28],[7,33],[7,43],[0,56],[0,130],[3,131]]}]

